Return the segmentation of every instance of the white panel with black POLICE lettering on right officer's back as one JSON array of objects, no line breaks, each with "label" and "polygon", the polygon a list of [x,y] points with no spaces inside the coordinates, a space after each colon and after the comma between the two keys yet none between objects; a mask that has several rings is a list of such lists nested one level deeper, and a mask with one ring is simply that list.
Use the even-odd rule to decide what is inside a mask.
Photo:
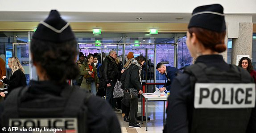
[{"label": "white panel with black POLICE lettering on right officer's back", "polygon": [[195,83],[195,108],[252,108],[255,106],[254,83]]}]

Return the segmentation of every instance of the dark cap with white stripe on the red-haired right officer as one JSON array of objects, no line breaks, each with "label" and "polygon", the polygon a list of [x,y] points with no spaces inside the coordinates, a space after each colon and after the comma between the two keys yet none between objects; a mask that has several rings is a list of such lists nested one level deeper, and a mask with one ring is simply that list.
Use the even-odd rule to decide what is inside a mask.
[{"label": "dark cap with white stripe on the red-haired right officer", "polygon": [[188,28],[200,27],[211,31],[226,31],[223,7],[220,4],[204,5],[194,9]]}]

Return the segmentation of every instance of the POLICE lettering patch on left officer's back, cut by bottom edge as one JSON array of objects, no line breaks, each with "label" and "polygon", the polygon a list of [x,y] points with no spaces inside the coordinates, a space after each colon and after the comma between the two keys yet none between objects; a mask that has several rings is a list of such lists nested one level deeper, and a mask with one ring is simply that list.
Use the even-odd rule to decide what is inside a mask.
[{"label": "POLICE lettering patch on left officer's back, cut by bottom edge", "polygon": [[61,129],[62,131],[72,130],[78,133],[77,118],[19,118],[9,119],[10,127],[19,129],[42,129],[52,131]]}]

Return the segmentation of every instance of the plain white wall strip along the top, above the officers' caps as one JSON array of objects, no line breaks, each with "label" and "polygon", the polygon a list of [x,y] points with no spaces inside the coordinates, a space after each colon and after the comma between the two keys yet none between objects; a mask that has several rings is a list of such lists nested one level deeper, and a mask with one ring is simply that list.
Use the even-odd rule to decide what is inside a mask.
[{"label": "plain white wall strip along the top, above the officers' caps", "polygon": [[256,0],[0,0],[0,11],[190,13],[216,3],[226,14],[256,14]]}]

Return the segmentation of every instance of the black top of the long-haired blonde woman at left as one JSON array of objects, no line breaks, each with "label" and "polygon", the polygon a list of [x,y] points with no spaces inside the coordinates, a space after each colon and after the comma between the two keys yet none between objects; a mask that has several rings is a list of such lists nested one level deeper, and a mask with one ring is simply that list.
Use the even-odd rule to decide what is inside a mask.
[{"label": "black top of the long-haired blonde woman at left", "polygon": [[25,74],[21,71],[21,69],[16,70],[10,79],[4,78],[3,82],[8,86],[8,94],[15,88],[26,86],[27,85],[27,79],[25,77]]}]

